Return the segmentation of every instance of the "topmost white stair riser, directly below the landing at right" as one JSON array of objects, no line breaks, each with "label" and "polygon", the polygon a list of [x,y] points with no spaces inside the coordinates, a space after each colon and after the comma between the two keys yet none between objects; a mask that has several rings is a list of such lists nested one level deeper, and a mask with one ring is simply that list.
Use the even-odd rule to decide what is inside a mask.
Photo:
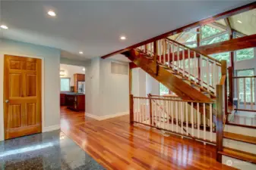
[{"label": "topmost white stair riser, directly below the landing at right", "polygon": [[256,137],[256,129],[254,129],[254,128],[244,128],[244,127],[239,127],[239,126],[235,126],[235,125],[225,125],[224,131],[228,131],[230,133],[235,133],[235,134],[243,134],[246,136]]}]

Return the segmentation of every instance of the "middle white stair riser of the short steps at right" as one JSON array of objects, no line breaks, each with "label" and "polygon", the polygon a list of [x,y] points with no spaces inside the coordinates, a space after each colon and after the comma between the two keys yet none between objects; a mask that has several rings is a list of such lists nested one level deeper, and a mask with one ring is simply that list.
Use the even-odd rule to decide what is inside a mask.
[{"label": "middle white stair riser of the short steps at right", "polygon": [[[256,154],[256,146],[254,144],[248,144],[241,141],[234,141],[232,139],[223,139],[223,146],[229,147],[235,150],[241,150],[247,153]],[[255,168],[256,169],[256,168]]]}]

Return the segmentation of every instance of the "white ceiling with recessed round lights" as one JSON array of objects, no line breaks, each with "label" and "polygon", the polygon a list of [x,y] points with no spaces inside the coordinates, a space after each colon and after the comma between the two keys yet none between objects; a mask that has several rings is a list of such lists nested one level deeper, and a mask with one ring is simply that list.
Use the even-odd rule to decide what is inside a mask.
[{"label": "white ceiling with recessed round lights", "polygon": [[[2,1],[0,23],[9,29],[0,38],[60,48],[62,57],[86,60],[250,2]],[[51,9],[57,17],[46,14]]]}]

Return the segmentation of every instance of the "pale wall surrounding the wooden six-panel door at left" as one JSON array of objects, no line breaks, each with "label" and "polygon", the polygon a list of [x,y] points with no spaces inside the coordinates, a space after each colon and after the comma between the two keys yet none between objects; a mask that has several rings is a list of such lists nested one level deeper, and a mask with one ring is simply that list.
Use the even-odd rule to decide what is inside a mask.
[{"label": "pale wall surrounding the wooden six-panel door at left", "polygon": [[40,57],[43,64],[43,131],[59,128],[59,65],[60,51],[40,45],[0,39],[0,141],[4,139],[3,126],[3,75],[4,54],[24,57]]}]

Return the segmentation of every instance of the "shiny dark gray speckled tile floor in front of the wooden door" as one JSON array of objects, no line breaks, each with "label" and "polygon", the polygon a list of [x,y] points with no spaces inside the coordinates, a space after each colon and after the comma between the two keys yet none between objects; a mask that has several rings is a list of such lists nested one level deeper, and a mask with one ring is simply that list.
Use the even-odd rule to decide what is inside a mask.
[{"label": "shiny dark gray speckled tile floor in front of the wooden door", "polygon": [[62,131],[0,142],[0,169],[105,169]]}]

